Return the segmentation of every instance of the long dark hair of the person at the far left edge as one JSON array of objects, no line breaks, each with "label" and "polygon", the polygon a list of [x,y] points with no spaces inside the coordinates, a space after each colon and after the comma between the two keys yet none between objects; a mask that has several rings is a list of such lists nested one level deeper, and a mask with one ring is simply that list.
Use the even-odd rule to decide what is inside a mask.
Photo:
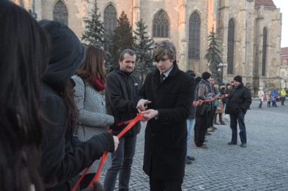
[{"label": "long dark hair of the person at the far left edge", "polygon": [[43,190],[39,175],[39,87],[48,63],[48,37],[27,11],[0,1],[0,184],[4,190]]}]

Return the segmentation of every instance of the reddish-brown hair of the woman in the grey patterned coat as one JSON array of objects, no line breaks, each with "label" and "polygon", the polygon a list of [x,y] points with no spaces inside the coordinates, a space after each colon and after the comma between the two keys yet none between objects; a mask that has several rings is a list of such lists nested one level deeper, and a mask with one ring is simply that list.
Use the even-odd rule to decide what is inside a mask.
[{"label": "reddish-brown hair of the woman in the grey patterned coat", "polygon": [[104,68],[105,59],[105,52],[101,48],[89,45],[86,48],[86,56],[76,74],[82,79],[86,79],[92,86],[94,85],[93,79],[96,77],[100,77],[100,81],[104,84],[107,77]]}]

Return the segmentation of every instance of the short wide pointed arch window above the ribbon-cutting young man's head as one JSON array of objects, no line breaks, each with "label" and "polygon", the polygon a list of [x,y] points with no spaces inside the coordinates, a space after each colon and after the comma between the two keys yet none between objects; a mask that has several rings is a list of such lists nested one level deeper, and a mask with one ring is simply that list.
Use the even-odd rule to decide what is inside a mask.
[{"label": "short wide pointed arch window above the ribbon-cutting young man's head", "polygon": [[158,11],[153,18],[153,37],[167,38],[169,37],[169,21],[168,15],[163,11]]}]

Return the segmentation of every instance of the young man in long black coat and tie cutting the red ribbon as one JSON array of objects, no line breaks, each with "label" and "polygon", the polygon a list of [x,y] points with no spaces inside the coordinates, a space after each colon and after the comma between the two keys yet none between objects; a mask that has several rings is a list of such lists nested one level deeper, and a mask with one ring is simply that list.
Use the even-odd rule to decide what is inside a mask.
[{"label": "young man in long black coat and tie cutting the red ribbon", "polygon": [[153,47],[157,68],[148,74],[136,98],[142,121],[148,121],[143,170],[150,177],[150,190],[178,191],[185,172],[186,119],[193,102],[193,81],[178,69],[174,44],[162,41]]}]

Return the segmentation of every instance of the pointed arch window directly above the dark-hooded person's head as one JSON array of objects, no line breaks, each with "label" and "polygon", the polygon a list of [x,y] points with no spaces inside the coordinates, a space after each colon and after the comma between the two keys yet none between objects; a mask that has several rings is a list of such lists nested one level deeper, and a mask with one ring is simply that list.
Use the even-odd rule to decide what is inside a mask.
[{"label": "pointed arch window directly above the dark-hooded person's head", "polygon": [[58,1],[53,9],[53,20],[68,25],[68,11],[62,1]]}]

